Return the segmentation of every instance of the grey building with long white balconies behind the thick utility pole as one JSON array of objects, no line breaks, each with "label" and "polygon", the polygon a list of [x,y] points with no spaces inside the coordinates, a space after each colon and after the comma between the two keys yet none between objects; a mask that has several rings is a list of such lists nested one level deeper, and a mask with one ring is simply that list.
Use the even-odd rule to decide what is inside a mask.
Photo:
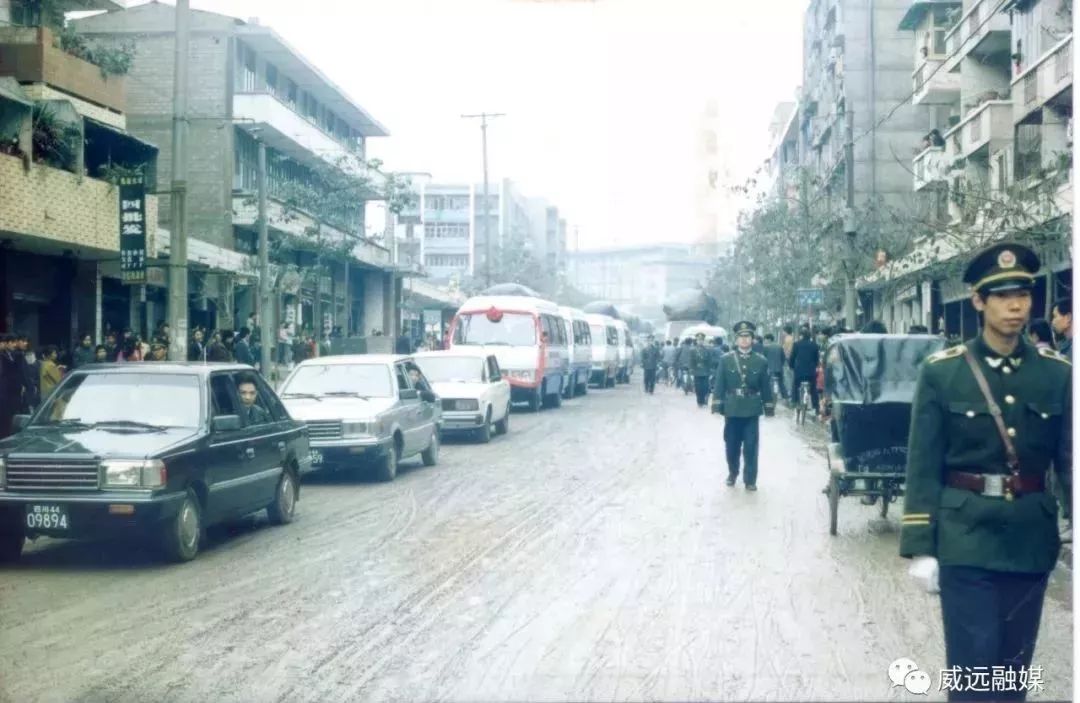
[{"label": "grey building with long white balconies behind the thick utility pole", "polygon": [[[174,8],[151,2],[73,25],[95,41],[135,46],[129,127],[162,145],[159,181],[167,182]],[[269,27],[200,11],[190,25],[187,222],[189,246],[206,253],[191,275],[191,324],[229,327],[257,305],[251,255],[261,143],[278,317],[298,327],[390,334],[400,281],[389,251],[363,236],[363,207],[336,215],[322,197],[297,197],[302,187],[325,194],[327,170],[377,180],[364,166],[366,140],[387,130]],[[167,201],[159,209],[163,228]]]}]

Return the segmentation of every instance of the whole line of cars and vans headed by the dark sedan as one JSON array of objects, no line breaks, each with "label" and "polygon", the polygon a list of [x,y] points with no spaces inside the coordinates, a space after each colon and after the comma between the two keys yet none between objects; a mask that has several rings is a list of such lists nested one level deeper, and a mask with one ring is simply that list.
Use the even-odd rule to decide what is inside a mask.
[{"label": "whole line of cars and vans headed by the dark sedan", "polygon": [[38,536],[135,538],[177,562],[215,524],[293,521],[302,477],[438,461],[441,440],[510,431],[511,406],[558,407],[630,381],[625,323],[539,298],[473,298],[445,351],[323,356],[278,392],[239,364],[87,365],[0,441],[0,562]]}]

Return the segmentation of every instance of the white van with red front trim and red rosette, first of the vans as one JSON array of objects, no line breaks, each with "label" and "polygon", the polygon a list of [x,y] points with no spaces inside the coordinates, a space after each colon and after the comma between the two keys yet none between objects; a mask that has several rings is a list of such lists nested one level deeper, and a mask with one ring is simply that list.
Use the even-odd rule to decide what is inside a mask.
[{"label": "white van with red front trim and red rosette, first of the vans", "polygon": [[450,323],[450,349],[484,348],[510,382],[511,400],[558,407],[567,378],[566,326],[558,306],[528,296],[476,296]]}]

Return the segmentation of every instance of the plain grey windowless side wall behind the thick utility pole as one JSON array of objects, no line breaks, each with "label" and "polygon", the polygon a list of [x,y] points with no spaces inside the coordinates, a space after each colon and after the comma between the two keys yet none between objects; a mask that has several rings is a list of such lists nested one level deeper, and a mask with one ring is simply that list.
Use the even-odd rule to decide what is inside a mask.
[{"label": "plain grey windowless side wall behind the thick utility pole", "polygon": [[[160,149],[158,182],[167,189],[173,159],[173,8],[143,5],[73,25],[103,43],[134,43],[136,53],[127,76],[127,129]],[[188,73],[188,232],[228,248],[233,246],[231,26],[228,17],[191,13]],[[160,205],[160,221],[167,228],[167,194]]]}]

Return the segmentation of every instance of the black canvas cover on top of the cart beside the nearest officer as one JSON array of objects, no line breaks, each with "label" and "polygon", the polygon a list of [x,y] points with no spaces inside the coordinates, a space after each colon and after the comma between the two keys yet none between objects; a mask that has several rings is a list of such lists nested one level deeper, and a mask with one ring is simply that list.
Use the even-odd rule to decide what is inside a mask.
[{"label": "black canvas cover on top of the cart beside the nearest officer", "polygon": [[825,392],[833,403],[912,403],[923,360],[944,348],[934,335],[841,335],[826,355]]}]

